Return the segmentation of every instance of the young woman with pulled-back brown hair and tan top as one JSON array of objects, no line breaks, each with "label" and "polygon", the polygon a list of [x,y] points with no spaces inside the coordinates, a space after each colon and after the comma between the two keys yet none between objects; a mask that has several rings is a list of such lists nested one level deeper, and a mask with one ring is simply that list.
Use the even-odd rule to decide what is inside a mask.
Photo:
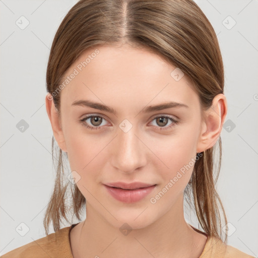
[{"label": "young woman with pulled-back brown hair and tan top", "polygon": [[[4,258],[252,257],[222,240],[223,62],[194,2],[79,1],[56,32],[46,83],[59,148],[47,236]],[[203,230],[186,223],[184,198]]]}]

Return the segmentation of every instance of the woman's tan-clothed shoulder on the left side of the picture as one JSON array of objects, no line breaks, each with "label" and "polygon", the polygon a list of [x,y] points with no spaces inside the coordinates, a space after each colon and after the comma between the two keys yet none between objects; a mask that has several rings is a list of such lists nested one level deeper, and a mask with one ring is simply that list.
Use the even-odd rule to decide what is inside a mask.
[{"label": "woman's tan-clothed shoulder on the left side of the picture", "polygon": [[1,258],[72,258],[73,256],[71,256],[72,253],[70,253],[71,246],[69,241],[70,229],[71,226],[62,228],[55,233],[49,234],[45,237],[34,240],[28,244],[9,251],[8,253],[2,255]]}]

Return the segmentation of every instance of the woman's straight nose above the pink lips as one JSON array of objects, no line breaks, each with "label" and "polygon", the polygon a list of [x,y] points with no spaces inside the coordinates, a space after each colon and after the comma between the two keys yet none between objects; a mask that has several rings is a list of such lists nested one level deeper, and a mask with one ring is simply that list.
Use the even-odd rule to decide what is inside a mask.
[{"label": "woman's straight nose above the pink lips", "polygon": [[114,144],[111,146],[112,165],[124,173],[132,173],[147,164],[148,147],[143,137],[138,136],[136,126],[128,132],[118,130]]}]

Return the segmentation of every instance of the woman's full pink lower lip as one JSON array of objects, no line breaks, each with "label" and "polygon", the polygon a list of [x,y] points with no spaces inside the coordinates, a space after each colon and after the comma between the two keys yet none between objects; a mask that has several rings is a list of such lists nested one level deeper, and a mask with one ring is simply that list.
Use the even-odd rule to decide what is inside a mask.
[{"label": "woman's full pink lower lip", "polygon": [[114,188],[105,184],[104,186],[114,199],[124,203],[138,202],[149,195],[149,193],[156,187],[156,185],[152,185],[145,188],[126,190],[121,188]]}]

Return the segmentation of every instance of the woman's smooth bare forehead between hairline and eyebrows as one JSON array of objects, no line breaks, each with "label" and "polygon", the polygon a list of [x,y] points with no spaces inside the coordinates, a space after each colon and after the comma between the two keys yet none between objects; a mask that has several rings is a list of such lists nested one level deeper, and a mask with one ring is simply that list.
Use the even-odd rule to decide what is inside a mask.
[{"label": "woman's smooth bare forehead between hairline and eyebrows", "polygon": [[72,64],[67,76],[73,79],[61,91],[61,103],[69,105],[83,98],[119,99],[124,105],[139,99],[143,104],[170,100],[190,106],[199,102],[188,76],[148,48],[91,47]]}]

